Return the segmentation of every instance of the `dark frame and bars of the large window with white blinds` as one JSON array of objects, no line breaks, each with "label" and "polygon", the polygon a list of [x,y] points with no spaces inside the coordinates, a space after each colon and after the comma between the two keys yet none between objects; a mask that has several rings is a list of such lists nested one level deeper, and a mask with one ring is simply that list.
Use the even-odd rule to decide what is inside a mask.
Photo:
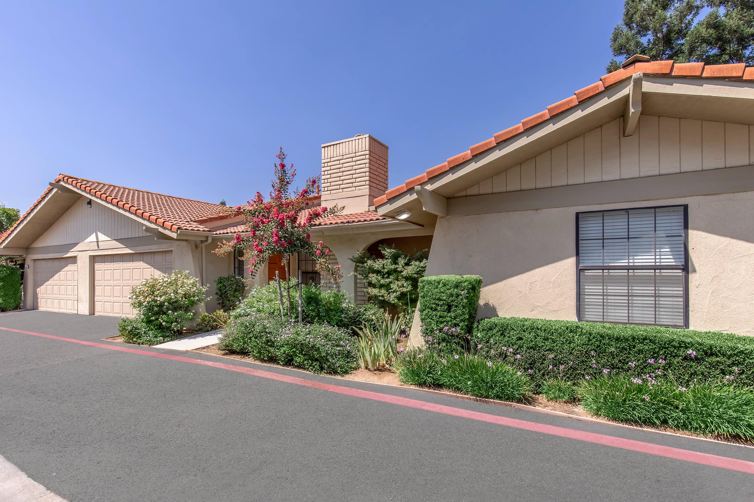
[{"label": "dark frame and bars of the large window with white blinds", "polygon": [[[672,266],[657,266],[657,265],[602,265],[602,266],[581,266],[581,250],[579,241],[579,218],[581,214],[593,214],[593,213],[608,213],[613,211],[632,211],[634,209],[661,209],[661,208],[683,208],[683,265]],[[669,204],[669,205],[647,205],[636,206],[633,208],[619,208],[619,209],[603,209],[595,211],[578,211],[576,213],[576,320],[581,321],[581,270],[668,270],[668,269],[682,269],[683,271],[683,326],[679,329],[688,330],[689,327],[689,308],[688,308],[688,204]],[[657,224],[657,217],[655,216],[655,224]],[[656,251],[656,250],[655,250]],[[630,297],[630,294],[628,295]],[[589,321],[592,322],[592,321]],[[615,322],[615,321],[599,321],[605,324],[630,324],[635,326],[660,326],[660,327],[673,327],[667,324],[642,324],[632,322]]]}]

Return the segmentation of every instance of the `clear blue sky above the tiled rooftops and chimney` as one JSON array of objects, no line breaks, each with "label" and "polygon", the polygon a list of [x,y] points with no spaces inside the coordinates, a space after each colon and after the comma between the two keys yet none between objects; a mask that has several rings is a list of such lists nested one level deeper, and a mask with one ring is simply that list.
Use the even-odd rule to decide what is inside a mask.
[{"label": "clear blue sky above the tiled rooftops and chimney", "polygon": [[[604,75],[622,2],[5,2],[0,202],[60,172],[267,193],[366,132],[395,186]],[[303,180],[301,180],[303,182]]]}]

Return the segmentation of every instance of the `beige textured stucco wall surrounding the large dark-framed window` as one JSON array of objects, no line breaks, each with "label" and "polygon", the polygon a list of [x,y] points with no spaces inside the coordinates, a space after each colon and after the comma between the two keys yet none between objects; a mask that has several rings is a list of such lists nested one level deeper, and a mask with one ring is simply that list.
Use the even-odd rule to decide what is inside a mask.
[{"label": "beige textured stucco wall surrounding the large dark-framed window", "polygon": [[752,191],[439,218],[427,273],[481,275],[480,318],[575,320],[576,212],[675,204],[688,204],[691,329],[754,335]]}]

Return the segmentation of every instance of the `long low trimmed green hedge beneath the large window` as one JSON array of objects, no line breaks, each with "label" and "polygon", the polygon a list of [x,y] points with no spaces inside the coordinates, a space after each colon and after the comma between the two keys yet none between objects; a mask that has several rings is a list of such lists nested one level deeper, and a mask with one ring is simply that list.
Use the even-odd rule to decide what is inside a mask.
[{"label": "long low trimmed green hedge beneath the large window", "polygon": [[754,337],[731,333],[488,318],[474,326],[471,342],[474,354],[506,361],[538,379],[575,383],[625,373],[669,376],[684,387],[725,376],[754,385]]}]

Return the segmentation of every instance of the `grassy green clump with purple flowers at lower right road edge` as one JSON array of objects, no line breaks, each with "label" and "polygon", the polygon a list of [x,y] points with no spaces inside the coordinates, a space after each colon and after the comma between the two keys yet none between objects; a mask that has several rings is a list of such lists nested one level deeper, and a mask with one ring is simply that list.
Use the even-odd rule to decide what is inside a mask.
[{"label": "grassy green clump with purple flowers at lower right road edge", "polygon": [[700,434],[754,438],[754,389],[719,383],[684,388],[672,379],[627,375],[584,379],[581,406],[594,415]]}]

